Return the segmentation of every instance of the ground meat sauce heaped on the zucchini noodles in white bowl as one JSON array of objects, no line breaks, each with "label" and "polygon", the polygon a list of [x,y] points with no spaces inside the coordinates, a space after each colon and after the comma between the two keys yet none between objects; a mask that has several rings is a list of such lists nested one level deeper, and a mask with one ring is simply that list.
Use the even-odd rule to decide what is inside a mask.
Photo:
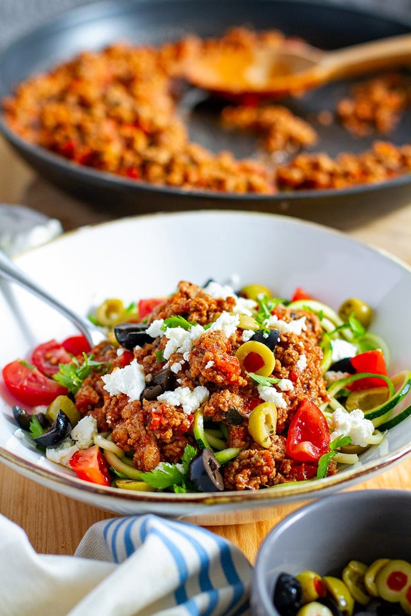
[{"label": "ground meat sauce heaped on the zucchini noodles in white bowl", "polygon": [[[179,403],[161,397],[161,394],[175,392],[178,387],[187,387],[190,392],[198,388],[206,392],[205,399],[198,402],[196,408],[201,407],[205,421],[226,426],[227,448],[241,448],[238,456],[222,469],[227,490],[254,490],[315,476],[316,464],[298,463],[287,458],[285,442],[290,419],[303,400],[313,400],[317,404],[328,400],[320,366],[319,317],[305,310],[290,310],[282,304],[273,311],[273,318],[280,319],[279,323],[283,323],[285,329],[302,318],[304,327],[300,334],[283,331],[275,346],[271,377],[289,381],[287,391],[279,391],[282,402],[277,404],[276,433],[272,434],[269,447],[261,447],[248,431],[248,417],[264,400],[258,383],[243,370],[236,356],[244,342],[245,332],[240,325],[234,325],[232,331],[224,329],[227,319],[237,318],[239,321],[238,313],[244,305],[240,304],[241,299],[235,294],[218,298],[215,290],[211,294],[208,286],[200,288],[189,282],[180,282],[176,293],[164,299],[147,317],[147,331],[152,331],[151,328],[160,326],[170,317],[183,317],[191,323],[187,328],[205,326],[201,328],[202,333],[192,339],[187,347],[189,350],[183,348],[186,344],[183,328],[179,328],[181,339],[171,349],[167,360],[160,357],[159,361],[158,356],[158,351],[167,356],[168,344],[173,342],[169,333],[172,330],[165,327],[158,330],[160,335],[152,342],[136,347],[131,359],[137,360],[146,386],[137,400],[130,399],[125,392],[110,395],[110,387],[105,386],[102,373],[94,373],[84,380],[75,395],[76,407],[81,415],[94,416],[100,431],[111,432],[113,442],[132,455],[135,468],[152,471],[161,462],[178,463],[187,444],[197,447],[193,433],[195,408],[185,408],[184,400]],[[257,306],[250,299],[246,301],[247,307],[250,307],[250,302]],[[217,320],[221,321],[221,328],[213,328]],[[169,326],[174,328],[174,325]],[[175,349],[176,346],[179,348]],[[115,375],[116,370],[124,368],[121,363],[123,353],[116,346],[102,343],[93,349],[92,354],[99,361],[107,362],[106,375]],[[305,360],[301,364],[303,356]],[[161,376],[165,377],[163,381]],[[151,396],[147,394],[145,397],[144,392],[152,391],[152,387],[159,388],[155,392],[160,391],[160,394],[155,399],[148,399]],[[164,393],[164,387],[168,394]],[[273,391],[276,391],[275,386]],[[335,472],[336,466],[332,463],[328,474]]]}]

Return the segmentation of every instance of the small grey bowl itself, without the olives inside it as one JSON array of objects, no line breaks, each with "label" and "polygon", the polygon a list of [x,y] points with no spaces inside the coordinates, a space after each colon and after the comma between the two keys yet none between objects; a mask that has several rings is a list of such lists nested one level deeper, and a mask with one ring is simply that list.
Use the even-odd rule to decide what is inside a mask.
[{"label": "small grey bowl itself, without the olives inside it", "polygon": [[357,490],[326,496],[283,519],[259,549],[251,586],[253,616],[279,616],[272,596],[279,573],[311,569],[340,576],[351,560],[411,561],[411,492]]}]

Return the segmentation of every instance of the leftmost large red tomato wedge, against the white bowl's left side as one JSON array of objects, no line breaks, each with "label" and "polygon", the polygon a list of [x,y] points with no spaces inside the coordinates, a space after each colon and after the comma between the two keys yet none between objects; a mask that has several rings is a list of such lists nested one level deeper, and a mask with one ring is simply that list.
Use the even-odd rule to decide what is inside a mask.
[{"label": "leftmost large red tomato wedge, against the white bowl's left side", "polygon": [[16,360],[8,363],[2,370],[2,376],[7,389],[20,402],[32,407],[39,404],[49,405],[58,395],[67,394],[65,387],[26,362]]}]

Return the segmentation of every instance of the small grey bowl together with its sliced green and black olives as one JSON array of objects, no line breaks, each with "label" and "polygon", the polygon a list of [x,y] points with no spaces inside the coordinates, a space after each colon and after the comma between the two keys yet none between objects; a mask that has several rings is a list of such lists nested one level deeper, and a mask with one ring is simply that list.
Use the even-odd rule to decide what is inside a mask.
[{"label": "small grey bowl together with its sliced green and black olives", "polygon": [[411,614],[411,492],[357,490],[285,518],[259,550],[253,616]]}]

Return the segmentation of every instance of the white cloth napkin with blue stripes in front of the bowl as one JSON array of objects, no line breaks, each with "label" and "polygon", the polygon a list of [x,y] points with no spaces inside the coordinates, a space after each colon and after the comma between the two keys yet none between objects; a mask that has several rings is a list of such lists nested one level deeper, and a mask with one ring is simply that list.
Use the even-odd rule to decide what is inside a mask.
[{"label": "white cloth napkin with blue stripes in front of the bowl", "polygon": [[246,616],[250,580],[236,546],[187,522],[117,517],[49,556],[0,516],[1,616]]}]

